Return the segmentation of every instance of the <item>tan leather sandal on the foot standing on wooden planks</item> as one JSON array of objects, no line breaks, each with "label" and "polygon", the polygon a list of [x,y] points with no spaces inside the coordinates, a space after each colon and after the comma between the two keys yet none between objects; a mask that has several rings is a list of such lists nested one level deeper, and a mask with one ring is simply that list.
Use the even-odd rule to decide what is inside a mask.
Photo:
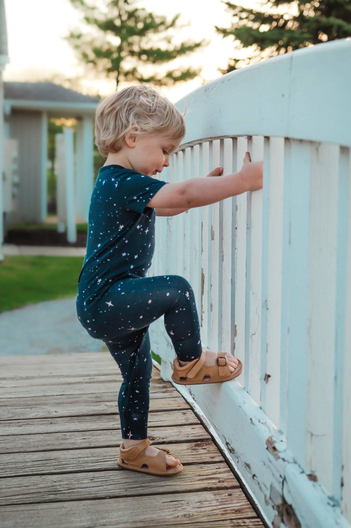
[{"label": "tan leather sandal on the foot standing on wooden planks", "polygon": [[[158,447],[157,449],[161,449],[161,451],[155,457],[144,455],[144,449],[151,444],[152,441],[149,438],[145,438],[140,444],[125,449],[122,442],[119,446],[120,457],[117,460],[118,466],[124,467],[125,469],[132,469],[133,471],[162,476],[175,475],[182,471],[183,464],[180,464],[180,462],[179,468],[177,466],[166,466],[166,456],[172,455],[169,449]],[[146,467],[143,467],[145,465]]]}]

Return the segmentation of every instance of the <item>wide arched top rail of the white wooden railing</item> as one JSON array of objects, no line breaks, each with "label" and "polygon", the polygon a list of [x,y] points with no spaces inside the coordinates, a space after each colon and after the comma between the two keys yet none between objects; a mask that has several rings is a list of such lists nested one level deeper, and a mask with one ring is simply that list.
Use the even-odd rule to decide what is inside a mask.
[{"label": "wide arched top rail of the white wooden railing", "polygon": [[351,39],[277,55],[227,73],[176,102],[186,109],[178,150],[230,136],[351,146]]}]

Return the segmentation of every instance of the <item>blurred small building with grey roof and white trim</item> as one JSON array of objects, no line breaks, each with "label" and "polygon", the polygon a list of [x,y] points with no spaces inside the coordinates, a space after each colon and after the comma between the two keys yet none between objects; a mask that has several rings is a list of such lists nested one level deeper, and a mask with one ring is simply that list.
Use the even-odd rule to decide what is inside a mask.
[{"label": "blurred small building with grey roof and white trim", "polygon": [[[87,221],[93,190],[93,124],[99,99],[52,82],[4,82],[4,137],[18,140],[19,187],[12,222],[43,222],[47,209],[47,121],[51,117],[78,120],[76,215]],[[84,192],[81,193],[81,190]]]}]

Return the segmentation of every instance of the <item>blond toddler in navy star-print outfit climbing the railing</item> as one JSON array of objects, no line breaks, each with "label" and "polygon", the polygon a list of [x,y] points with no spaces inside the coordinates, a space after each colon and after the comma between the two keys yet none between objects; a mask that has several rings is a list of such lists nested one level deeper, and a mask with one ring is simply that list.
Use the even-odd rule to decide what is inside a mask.
[{"label": "blond toddler in navy star-print outfit climbing the railing", "polygon": [[[184,136],[182,114],[152,84],[115,91],[98,103],[95,143],[106,162],[92,193],[76,300],[79,321],[89,335],[106,343],[121,369],[118,410],[123,444],[118,464],[155,475],[178,473],[183,466],[169,451],[151,447],[147,438],[153,366],[149,325],[164,315],[179,371],[188,372],[187,366],[202,362],[208,372],[224,373],[225,368],[226,379],[241,372],[232,354],[219,356],[202,347],[189,282],[178,275],[146,277],[155,247],[155,216],[172,216],[262,188],[262,162],[251,163],[248,153],[239,173],[179,183],[156,179]],[[208,176],[219,176],[222,170],[214,169]],[[207,376],[207,382],[211,380],[212,375]]]}]

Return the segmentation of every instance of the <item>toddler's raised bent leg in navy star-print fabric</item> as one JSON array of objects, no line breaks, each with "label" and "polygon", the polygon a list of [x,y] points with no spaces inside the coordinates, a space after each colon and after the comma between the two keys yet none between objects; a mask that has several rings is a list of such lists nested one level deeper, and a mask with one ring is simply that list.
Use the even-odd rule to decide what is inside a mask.
[{"label": "toddler's raised bent leg in navy star-print fabric", "polygon": [[[116,282],[101,300],[96,328],[100,335],[93,335],[103,339],[107,346],[109,339],[116,346],[120,342],[121,348],[126,343],[133,344],[139,332],[162,315],[179,359],[192,361],[199,357],[202,345],[194,292],[189,282],[179,275]],[[93,333],[95,328],[91,323]]]}]

